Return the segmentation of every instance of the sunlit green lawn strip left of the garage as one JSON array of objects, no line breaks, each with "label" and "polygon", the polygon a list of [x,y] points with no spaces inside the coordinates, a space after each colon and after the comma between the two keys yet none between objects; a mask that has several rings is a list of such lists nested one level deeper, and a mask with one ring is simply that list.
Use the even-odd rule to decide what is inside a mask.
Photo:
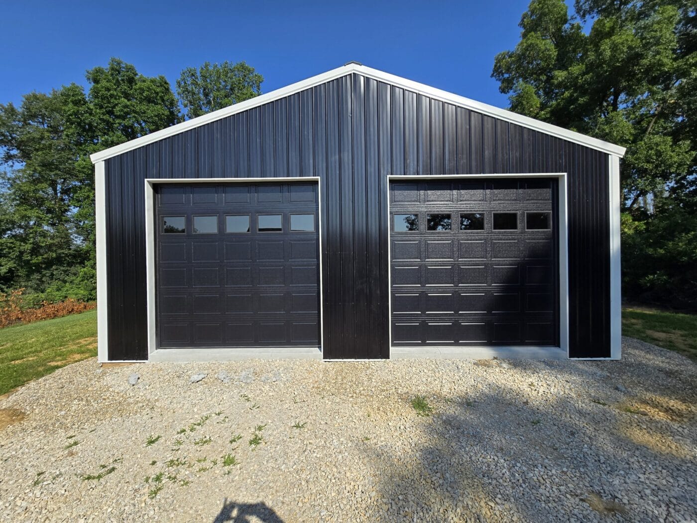
[{"label": "sunlit green lawn strip left of the garage", "polygon": [[97,355],[97,312],[0,329],[0,394]]}]

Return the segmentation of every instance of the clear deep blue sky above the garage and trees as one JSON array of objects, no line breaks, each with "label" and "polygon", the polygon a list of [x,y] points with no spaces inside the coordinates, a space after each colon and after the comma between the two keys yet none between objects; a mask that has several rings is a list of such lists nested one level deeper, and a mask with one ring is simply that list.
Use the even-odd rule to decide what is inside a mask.
[{"label": "clear deep blue sky above the garage and trees", "polygon": [[528,0],[55,1],[3,3],[0,103],[77,82],[110,56],[174,80],[204,61],[245,60],[273,91],[360,61],[507,106],[491,79],[519,40]]}]

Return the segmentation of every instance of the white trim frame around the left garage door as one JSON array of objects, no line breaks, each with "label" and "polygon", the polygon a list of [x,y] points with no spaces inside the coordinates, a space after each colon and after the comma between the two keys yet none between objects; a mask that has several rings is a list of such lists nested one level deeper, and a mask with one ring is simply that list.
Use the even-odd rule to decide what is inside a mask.
[{"label": "white trim frame around the left garage door", "polygon": [[[103,162],[102,162],[103,163]],[[226,361],[229,359],[244,359],[244,358],[293,358],[295,356],[287,356],[293,354],[293,351],[298,349],[307,349],[305,347],[282,347],[282,348],[268,348],[268,347],[250,347],[246,349],[244,347],[230,347],[230,348],[212,348],[212,349],[160,349],[157,343],[157,315],[155,314],[155,184],[166,184],[166,183],[259,183],[259,182],[276,182],[276,183],[289,183],[289,182],[305,182],[313,183],[317,188],[317,234],[319,234],[319,348],[312,348],[312,350],[319,351],[320,357],[324,355],[324,309],[323,309],[323,281],[322,281],[322,191],[320,187],[319,176],[289,176],[286,178],[147,178],[145,179],[145,216],[146,216],[146,226],[145,226],[145,242],[146,242],[146,282],[147,282],[147,311],[148,311],[148,355],[150,361],[212,361],[208,360],[207,354],[209,352],[215,352],[220,354],[223,358],[220,361]],[[187,360],[186,358],[191,358],[187,351],[198,351],[196,354],[198,359]],[[309,350],[309,349],[307,349]],[[162,353],[172,352],[173,354],[179,354],[179,356],[167,356],[165,358]],[[229,351],[229,354],[222,351]],[[245,353],[245,351],[247,351]],[[273,352],[273,354],[271,354]],[[267,354],[268,353],[268,354]],[[155,358],[155,354],[159,354]],[[246,354],[246,356],[240,356]],[[261,356],[261,354],[266,354],[266,356]],[[284,356],[284,354],[286,356]],[[180,359],[177,359],[180,358]],[[183,358],[183,359],[181,359]]]}]

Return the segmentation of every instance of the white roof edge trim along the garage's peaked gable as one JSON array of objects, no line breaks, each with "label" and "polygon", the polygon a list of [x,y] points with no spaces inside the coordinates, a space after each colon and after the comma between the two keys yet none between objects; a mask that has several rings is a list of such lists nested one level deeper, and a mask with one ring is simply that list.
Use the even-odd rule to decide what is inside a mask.
[{"label": "white roof edge trim along the garage's peaked gable", "polygon": [[231,114],[247,111],[248,109],[273,102],[279,98],[284,98],[285,96],[304,91],[305,89],[309,89],[310,87],[314,87],[325,82],[330,82],[330,80],[337,79],[351,73],[358,73],[360,75],[376,79],[380,82],[385,82],[401,87],[402,89],[407,89],[408,91],[415,91],[416,93],[423,94],[431,98],[436,98],[437,100],[441,100],[443,102],[459,105],[475,112],[480,112],[482,114],[487,114],[488,116],[493,116],[494,118],[516,123],[519,126],[538,130],[539,132],[544,132],[547,135],[588,146],[591,149],[597,149],[613,156],[618,156],[620,158],[625,156],[625,147],[611,144],[610,142],[604,142],[601,139],[593,138],[587,135],[582,135],[580,132],[574,132],[562,127],[553,126],[551,123],[535,120],[529,116],[523,116],[522,114],[517,114],[506,109],[500,109],[500,107],[470,100],[470,98],[465,98],[464,96],[459,96],[441,89],[436,89],[435,87],[431,87],[426,84],[413,82],[412,80],[392,75],[390,73],[385,73],[384,71],[378,69],[361,66],[357,63],[348,63],[346,66],[338,67],[336,69],[327,71],[326,73],[322,73],[321,75],[316,75],[305,80],[301,80],[300,82],[276,89],[270,93],[256,96],[256,98],[251,98],[250,100],[245,100],[244,102],[236,103],[235,105],[230,105],[229,107],[223,107],[222,109],[204,114],[203,116],[198,116],[197,118],[183,121],[182,123],[177,123],[174,126],[151,132],[149,135],[141,136],[139,138],[132,139],[129,142],[124,142],[123,144],[109,147],[109,149],[104,149],[98,153],[91,154],[90,159],[92,160],[92,163],[101,162],[107,158],[118,156],[119,154],[132,151],[133,149],[138,149],[144,145],[158,142],[158,140],[173,135],[178,135],[180,132],[197,128],[199,126],[204,126],[206,123],[223,119]]}]

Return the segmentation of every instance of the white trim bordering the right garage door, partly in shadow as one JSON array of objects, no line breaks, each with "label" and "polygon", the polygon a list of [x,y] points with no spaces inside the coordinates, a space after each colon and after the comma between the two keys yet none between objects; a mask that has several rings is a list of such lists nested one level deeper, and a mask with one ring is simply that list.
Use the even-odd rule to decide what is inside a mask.
[{"label": "white trim bordering the right garage door, partly in shadow", "polygon": [[[558,352],[561,351],[562,354],[565,354],[566,357],[569,357],[569,261],[568,261],[568,252],[569,252],[569,246],[568,246],[568,227],[569,227],[569,218],[568,218],[568,205],[567,205],[567,174],[565,172],[545,172],[545,173],[523,173],[523,174],[518,174],[518,173],[511,173],[511,174],[505,174],[505,173],[499,173],[499,174],[429,174],[429,175],[409,175],[409,176],[403,176],[403,175],[395,175],[395,174],[390,174],[388,175],[388,204],[387,204],[387,224],[388,224],[388,289],[390,289],[390,294],[388,295],[388,332],[390,334],[389,340],[390,340],[390,358],[392,357],[392,354],[394,354],[394,351],[409,351],[413,349],[413,354],[415,356],[406,356],[403,354],[400,354],[400,358],[407,358],[407,357],[421,357],[418,356],[420,352],[422,351],[434,351],[433,354],[436,354],[436,351],[439,351],[440,349],[438,347],[405,347],[405,346],[393,346],[392,345],[392,241],[391,241],[391,236],[392,236],[392,221],[390,220],[390,183],[392,181],[397,181],[397,180],[428,180],[428,179],[482,179],[482,178],[556,178],[558,179],[559,183],[559,197],[558,197],[558,216],[559,216],[559,347],[528,347],[528,346],[519,346],[516,347],[516,350],[518,351],[526,351],[526,349],[545,349],[544,354],[547,354],[547,351],[549,351],[549,355],[544,356],[543,353],[538,353],[542,354],[544,358],[556,358],[558,356]],[[459,354],[459,351],[468,351],[469,349],[473,350],[473,354],[475,354],[477,351],[481,351],[483,349],[512,349],[512,347],[447,347],[447,349],[450,351],[453,351],[453,354]],[[491,353],[493,354],[493,352]],[[502,353],[503,354],[503,353]],[[432,357],[441,357],[441,356],[432,356]],[[443,358],[447,358],[447,354],[442,356]],[[452,356],[453,358],[458,358],[458,357],[466,357],[466,356]],[[467,356],[468,357],[468,356]],[[472,356],[474,357],[474,356]],[[484,357],[484,356],[482,356]],[[491,356],[487,356],[491,357]],[[510,357],[510,356],[507,356]],[[540,358],[541,356],[531,356],[535,358]]]}]

